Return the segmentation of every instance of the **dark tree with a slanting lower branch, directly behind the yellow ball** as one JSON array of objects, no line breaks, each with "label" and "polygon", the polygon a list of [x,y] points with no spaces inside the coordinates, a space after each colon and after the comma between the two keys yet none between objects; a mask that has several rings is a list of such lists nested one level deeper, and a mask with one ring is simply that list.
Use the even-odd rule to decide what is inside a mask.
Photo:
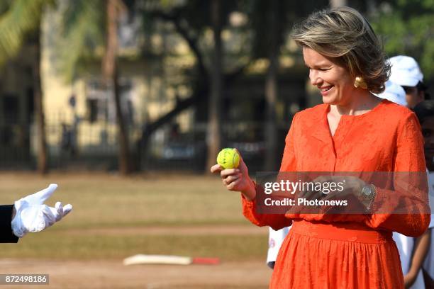
[{"label": "dark tree with a slanting lower branch, directly behind the yellow ball", "polygon": [[[146,144],[148,138],[161,125],[170,121],[175,115],[186,108],[200,103],[208,103],[208,107],[199,112],[208,112],[208,157],[207,164],[215,164],[216,154],[223,143],[222,131],[222,87],[227,85],[236,75],[242,72],[243,67],[236,67],[232,73],[225,73],[223,61],[223,43],[221,31],[227,26],[228,13],[233,11],[235,5],[232,1],[187,1],[183,5],[164,3],[161,1],[143,1],[148,4],[143,13],[144,18],[153,21],[167,21],[174,24],[178,33],[189,45],[196,58],[196,67],[191,87],[193,92],[189,98],[177,102],[177,105],[155,122],[148,124],[143,130],[142,143]],[[201,41],[207,29],[213,31],[213,46],[204,45]],[[198,106],[199,107],[199,106]],[[208,171],[208,170],[207,170]]]}]

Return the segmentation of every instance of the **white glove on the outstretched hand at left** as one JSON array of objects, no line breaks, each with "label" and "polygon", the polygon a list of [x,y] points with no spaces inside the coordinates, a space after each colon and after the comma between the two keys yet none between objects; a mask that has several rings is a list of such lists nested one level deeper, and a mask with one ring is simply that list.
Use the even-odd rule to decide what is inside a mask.
[{"label": "white glove on the outstretched hand at left", "polygon": [[28,232],[40,232],[58,222],[72,210],[72,205],[62,206],[57,202],[55,208],[44,205],[56,190],[55,183],[38,193],[21,198],[15,202],[16,215],[12,220],[12,230],[16,237],[23,237]]}]

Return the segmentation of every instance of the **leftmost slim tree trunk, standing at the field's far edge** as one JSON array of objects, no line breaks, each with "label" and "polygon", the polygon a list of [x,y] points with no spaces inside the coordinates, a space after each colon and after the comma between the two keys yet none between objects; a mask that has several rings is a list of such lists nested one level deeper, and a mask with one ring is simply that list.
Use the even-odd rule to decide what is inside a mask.
[{"label": "leftmost slim tree trunk, standing at the field's far edge", "polygon": [[35,102],[37,167],[40,174],[48,173],[47,140],[45,136],[45,116],[43,107],[43,93],[40,84],[40,23],[35,35],[35,57],[33,59],[33,99]]}]

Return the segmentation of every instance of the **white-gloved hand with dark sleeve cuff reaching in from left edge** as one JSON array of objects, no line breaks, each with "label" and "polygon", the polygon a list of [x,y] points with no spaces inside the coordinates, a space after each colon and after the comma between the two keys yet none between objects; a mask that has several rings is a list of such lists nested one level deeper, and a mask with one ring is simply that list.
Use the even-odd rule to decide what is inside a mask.
[{"label": "white-gloved hand with dark sleeve cuff reaching in from left edge", "polygon": [[16,243],[28,232],[40,232],[62,220],[72,210],[72,205],[64,206],[60,202],[54,208],[44,205],[56,188],[57,185],[52,183],[13,205],[0,205],[0,242]]}]

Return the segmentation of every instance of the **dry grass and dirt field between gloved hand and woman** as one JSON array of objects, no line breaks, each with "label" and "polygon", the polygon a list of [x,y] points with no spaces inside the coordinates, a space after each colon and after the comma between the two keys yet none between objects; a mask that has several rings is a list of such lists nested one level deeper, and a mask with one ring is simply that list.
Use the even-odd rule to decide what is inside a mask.
[{"label": "dry grass and dirt field between gloved hand and woman", "polygon": [[[0,203],[58,183],[50,202],[73,212],[45,232],[2,244],[0,273],[49,274],[50,285],[4,288],[267,288],[267,228],[241,213],[240,194],[208,176],[0,173]],[[133,254],[218,257],[216,266],[123,266]]]}]

